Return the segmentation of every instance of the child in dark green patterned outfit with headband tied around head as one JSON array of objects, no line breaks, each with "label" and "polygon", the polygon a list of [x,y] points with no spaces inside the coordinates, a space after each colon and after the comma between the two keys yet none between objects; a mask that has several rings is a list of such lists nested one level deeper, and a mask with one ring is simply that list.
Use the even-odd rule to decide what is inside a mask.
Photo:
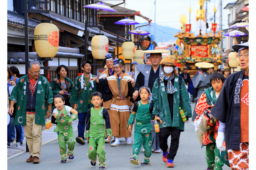
[{"label": "child in dark green patterned outfit with headband tied around head", "polygon": [[[139,89],[139,95],[141,101],[135,102],[133,106],[133,114],[130,114],[127,129],[131,132],[133,123],[136,117],[134,142],[133,142],[133,157],[130,158],[130,162],[135,165],[139,165],[139,152],[143,143],[145,149],[144,156],[146,157],[141,165],[150,165],[151,145],[152,145],[152,129],[151,118],[154,104],[152,101],[150,88],[148,86],[142,86]],[[157,120],[162,120],[156,116]],[[144,139],[144,140],[143,140]]]}]

